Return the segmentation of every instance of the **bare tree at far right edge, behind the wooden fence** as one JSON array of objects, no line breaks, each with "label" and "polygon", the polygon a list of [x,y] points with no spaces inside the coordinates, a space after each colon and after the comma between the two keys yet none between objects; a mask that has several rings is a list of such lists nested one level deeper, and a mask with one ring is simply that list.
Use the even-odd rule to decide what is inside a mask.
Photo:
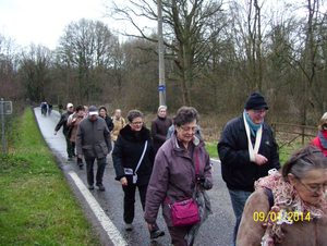
[{"label": "bare tree at far right edge, behind the wooden fence", "polygon": [[[306,17],[299,21],[300,29],[292,40],[293,50],[290,57],[290,65],[299,74],[299,103],[301,106],[302,124],[311,121],[308,107],[314,113],[316,123],[320,119],[317,113],[317,104],[324,104],[325,95],[322,88],[326,88],[326,13],[320,12],[322,1],[306,0],[302,9],[306,10]],[[323,93],[325,94],[325,93]],[[317,101],[318,100],[318,101]],[[320,107],[324,108],[324,107]]]}]

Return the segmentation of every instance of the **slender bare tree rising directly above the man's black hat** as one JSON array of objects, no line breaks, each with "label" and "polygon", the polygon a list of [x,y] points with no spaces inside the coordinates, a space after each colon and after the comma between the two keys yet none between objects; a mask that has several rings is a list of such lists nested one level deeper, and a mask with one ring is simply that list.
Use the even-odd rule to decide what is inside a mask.
[{"label": "slender bare tree rising directly above the man's black hat", "polygon": [[[247,91],[262,91],[264,77],[264,35],[269,19],[266,0],[232,1],[232,32],[234,36],[234,61]],[[266,17],[264,17],[266,16]]]}]

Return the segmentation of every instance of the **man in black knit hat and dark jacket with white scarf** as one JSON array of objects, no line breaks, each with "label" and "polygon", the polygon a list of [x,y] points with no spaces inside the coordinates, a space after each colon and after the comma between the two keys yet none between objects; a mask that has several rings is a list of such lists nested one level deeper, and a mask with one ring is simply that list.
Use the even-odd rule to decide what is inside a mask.
[{"label": "man in black knit hat and dark jacket with white scarf", "polygon": [[254,192],[254,182],[268,175],[270,169],[280,169],[278,146],[271,128],[264,122],[267,112],[265,97],[252,94],[243,114],[226,124],[217,146],[235,218],[242,214],[247,197]]}]

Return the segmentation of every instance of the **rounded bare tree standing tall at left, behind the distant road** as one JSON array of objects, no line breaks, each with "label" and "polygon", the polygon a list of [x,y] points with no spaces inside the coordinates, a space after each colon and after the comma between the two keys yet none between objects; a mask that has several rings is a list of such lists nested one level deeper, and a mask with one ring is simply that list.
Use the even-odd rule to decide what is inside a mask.
[{"label": "rounded bare tree standing tall at left, behind the distant road", "polygon": [[82,19],[65,27],[57,49],[57,64],[70,98],[94,100],[108,86],[113,44],[113,35],[99,21]]}]

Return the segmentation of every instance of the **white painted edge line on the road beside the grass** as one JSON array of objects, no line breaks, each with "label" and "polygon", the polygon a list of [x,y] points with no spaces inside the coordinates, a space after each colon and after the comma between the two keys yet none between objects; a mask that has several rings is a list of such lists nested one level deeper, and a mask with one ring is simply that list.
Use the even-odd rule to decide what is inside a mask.
[{"label": "white painted edge line on the road beside the grass", "polygon": [[97,202],[97,200],[94,198],[94,196],[90,194],[88,188],[84,185],[84,183],[81,181],[81,179],[77,176],[77,174],[74,171],[70,171],[69,174],[75,182],[76,186],[81,190],[82,195],[85,197],[87,204],[89,205],[90,209],[101,223],[104,230],[107,232],[109,238],[113,243],[114,246],[126,246],[128,243],[125,239],[121,236],[120,232],[117,230],[114,224],[111,222],[111,220],[108,218],[108,216],[105,213],[100,205]]}]

